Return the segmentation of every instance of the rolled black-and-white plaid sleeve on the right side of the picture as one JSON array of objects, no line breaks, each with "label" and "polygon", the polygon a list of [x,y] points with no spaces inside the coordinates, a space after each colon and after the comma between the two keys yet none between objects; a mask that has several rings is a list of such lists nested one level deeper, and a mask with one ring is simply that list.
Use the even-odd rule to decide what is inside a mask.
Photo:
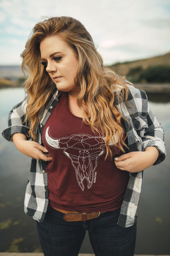
[{"label": "rolled black-and-white plaid sleeve on the right side of the picture", "polygon": [[[164,131],[162,125],[159,124],[156,117],[148,106],[147,94],[144,91],[136,89],[134,86],[129,86],[128,102],[122,104],[118,102],[118,110],[128,120],[125,122],[125,128],[127,135],[129,136],[129,147],[131,146],[131,152],[133,150],[133,143],[139,138],[142,143],[142,148],[139,147],[139,151],[142,151],[142,155],[147,148],[154,148],[158,150],[159,154],[154,162],[154,165],[164,161],[166,157],[166,149],[164,143]],[[135,138],[131,136],[135,133]],[[132,144],[131,144],[132,142]],[[137,144],[136,144],[137,146]],[[147,149],[148,150],[148,149]],[[150,150],[150,149],[149,149]],[[140,154],[140,153],[138,153]]]}]

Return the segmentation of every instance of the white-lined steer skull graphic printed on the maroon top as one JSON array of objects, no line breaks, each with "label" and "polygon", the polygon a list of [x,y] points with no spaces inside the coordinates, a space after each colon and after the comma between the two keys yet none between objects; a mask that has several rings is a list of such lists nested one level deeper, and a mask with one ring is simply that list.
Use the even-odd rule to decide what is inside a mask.
[{"label": "white-lined steer skull graphic printed on the maroon top", "polygon": [[87,188],[90,189],[94,183],[94,173],[98,158],[105,151],[105,138],[87,134],[75,134],[54,139],[49,134],[49,127],[46,130],[45,138],[50,147],[63,149],[63,153],[71,160],[82,191],[84,190],[84,179],[87,180]]}]

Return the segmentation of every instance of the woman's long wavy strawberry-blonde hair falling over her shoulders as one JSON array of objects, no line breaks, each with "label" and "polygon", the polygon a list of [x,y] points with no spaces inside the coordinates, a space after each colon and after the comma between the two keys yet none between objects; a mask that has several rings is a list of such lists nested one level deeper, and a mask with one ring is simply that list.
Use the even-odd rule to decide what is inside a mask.
[{"label": "woman's long wavy strawberry-blonde hair falling over her shoulders", "polygon": [[[84,123],[91,126],[92,131],[106,137],[106,157],[112,156],[109,141],[115,143],[118,134],[116,151],[124,151],[125,142],[122,126],[122,114],[115,104],[114,91],[123,86],[118,94],[122,101],[128,98],[128,86],[122,77],[111,69],[105,68],[103,59],[97,52],[95,44],[84,26],[71,17],[53,17],[39,22],[22,52],[22,70],[29,73],[25,80],[25,90],[28,94],[26,121],[29,122],[29,135],[36,139],[35,127],[40,122],[40,113],[50,99],[54,83],[41,65],[40,42],[48,36],[60,35],[72,47],[78,58],[78,72],[75,81],[80,85],[78,106],[83,113]],[[83,108],[83,101],[87,110]],[[90,118],[89,118],[90,115]]]}]

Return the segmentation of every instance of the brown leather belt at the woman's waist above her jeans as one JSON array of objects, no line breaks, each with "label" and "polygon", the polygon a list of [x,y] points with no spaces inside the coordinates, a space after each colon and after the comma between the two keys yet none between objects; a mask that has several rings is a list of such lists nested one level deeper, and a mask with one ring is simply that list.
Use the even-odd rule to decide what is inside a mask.
[{"label": "brown leather belt at the woman's waist above her jeans", "polygon": [[61,209],[57,209],[55,207],[53,207],[53,209],[64,213],[64,217],[63,219],[66,221],[87,221],[87,220],[92,220],[95,219],[97,217],[99,217],[99,215],[101,213],[104,213],[104,211],[101,212],[77,212],[77,211],[65,211],[65,210],[61,210]]}]

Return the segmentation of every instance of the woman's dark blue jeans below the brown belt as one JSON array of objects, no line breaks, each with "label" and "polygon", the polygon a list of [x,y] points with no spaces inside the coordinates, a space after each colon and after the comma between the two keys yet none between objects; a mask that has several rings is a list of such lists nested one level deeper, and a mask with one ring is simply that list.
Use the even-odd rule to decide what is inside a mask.
[{"label": "woman's dark blue jeans below the brown belt", "polygon": [[45,221],[37,221],[41,247],[45,256],[77,256],[86,230],[96,256],[133,256],[136,224],[129,228],[117,225],[120,209],[101,214],[88,221],[63,220],[64,213],[49,207]]}]

